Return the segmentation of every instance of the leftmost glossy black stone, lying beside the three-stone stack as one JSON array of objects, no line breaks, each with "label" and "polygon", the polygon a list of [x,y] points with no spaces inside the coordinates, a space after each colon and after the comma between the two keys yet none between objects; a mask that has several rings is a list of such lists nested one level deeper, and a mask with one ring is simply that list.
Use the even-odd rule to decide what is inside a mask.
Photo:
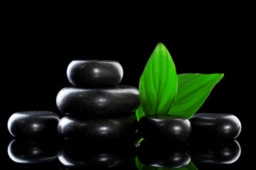
[{"label": "leftmost glossy black stone, lying beside the three-stone stack", "polygon": [[8,130],[23,140],[56,137],[59,115],[50,111],[23,111],[11,115]]}]

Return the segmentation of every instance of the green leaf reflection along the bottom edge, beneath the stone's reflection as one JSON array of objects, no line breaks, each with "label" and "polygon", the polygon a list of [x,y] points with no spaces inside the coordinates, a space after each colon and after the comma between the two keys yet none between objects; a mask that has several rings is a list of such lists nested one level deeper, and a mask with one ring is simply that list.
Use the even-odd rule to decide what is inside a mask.
[{"label": "green leaf reflection along the bottom edge, beneath the stone's reflection", "polygon": [[[142,162],[139,162],[138,157],[136,157],[135,161],[136,161],[137,169],[139,170],[171,170],[169,168],[158,168],[154,166],[144,165],[142,164]],[[198,169],[192,162],[189,162],[189,164],[187,164],[186,166],[183,166],[182,168],[178,168],[178,169],[173,169],[173,170],[198,170]]]}]

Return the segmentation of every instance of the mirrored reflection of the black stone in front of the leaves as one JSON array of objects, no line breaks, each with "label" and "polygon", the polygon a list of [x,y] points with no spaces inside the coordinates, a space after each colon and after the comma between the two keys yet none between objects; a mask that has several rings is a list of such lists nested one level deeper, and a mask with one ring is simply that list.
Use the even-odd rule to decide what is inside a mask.
[{"label": "mirrored reflection of the black stone in front of the leaves", "polygon": [[143,140],[139,145],[138,159],[144,165],[172,169],[186,166],[191,156],[183,142],[157,145]]}]

